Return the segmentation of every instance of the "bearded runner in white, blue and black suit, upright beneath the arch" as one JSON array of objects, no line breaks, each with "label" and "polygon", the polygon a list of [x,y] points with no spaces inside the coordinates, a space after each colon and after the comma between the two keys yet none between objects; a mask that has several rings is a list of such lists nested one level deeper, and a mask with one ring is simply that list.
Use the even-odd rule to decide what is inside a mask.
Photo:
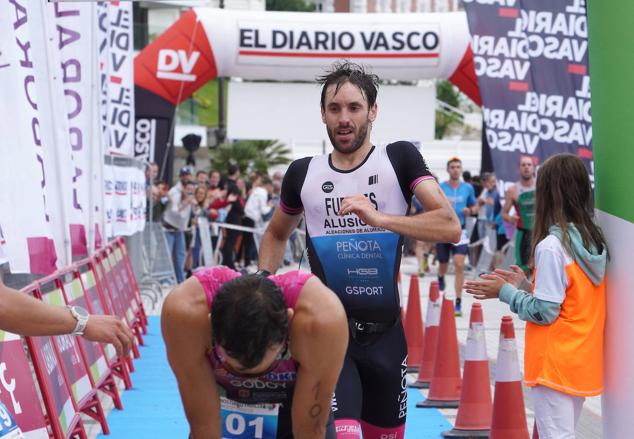
[{"label": "bearded runner in white, blue and black suit, upright beneath the arch", "polygon": [[[407,344],[397,273],[402,236],[458,241],[460,225],[418,150],[377,147],[378,78],[352,63],[320,78],[321,115],[334,147],[293,162],[280,209],[260,246],[260,268],[275,271],[286,240],[306,218],[311,269],[341,299],[351,340],[332,410],[337,437],[402,438],[407,413]],[[406,216],[412,195],[425,213]]]}]

